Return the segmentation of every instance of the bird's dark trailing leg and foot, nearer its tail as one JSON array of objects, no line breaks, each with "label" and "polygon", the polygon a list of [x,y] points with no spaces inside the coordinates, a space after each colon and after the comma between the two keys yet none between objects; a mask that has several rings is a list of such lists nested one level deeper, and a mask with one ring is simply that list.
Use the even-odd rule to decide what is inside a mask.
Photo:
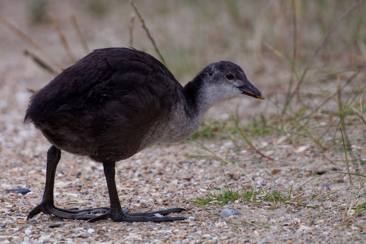
[{"label": "bird's dark trailing leg and foot, nearer its tail", "polygon": [[55,183],[55,173],[57,164],[61,158],[61,150],[55,146],[51,146],[47,151],[47,167],[46,167],[46,185],[43,198],[40,204],[32,209],[28,214],[28,219],[33,218],[35,215],[43,212],[45,214],[54,214],[61,218],[72,219],[90,219],[93,215],[86,215],[85,213],[97,213],[108,211],[108,207],[100,207],[96,209],[60,209],[53,205],[53,187]]}]

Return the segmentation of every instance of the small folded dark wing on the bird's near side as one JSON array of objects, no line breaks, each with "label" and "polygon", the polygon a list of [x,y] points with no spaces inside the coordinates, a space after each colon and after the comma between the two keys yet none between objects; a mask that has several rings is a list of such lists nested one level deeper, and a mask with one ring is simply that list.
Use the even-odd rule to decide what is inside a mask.
[{"label": "small folded dark wing on the bird's near side", "polygon": [[109,106],[121,117],[147,123],[178,102],[182,86],[153,56],[128,48],[110,49],[106,55],[113,70]]}]

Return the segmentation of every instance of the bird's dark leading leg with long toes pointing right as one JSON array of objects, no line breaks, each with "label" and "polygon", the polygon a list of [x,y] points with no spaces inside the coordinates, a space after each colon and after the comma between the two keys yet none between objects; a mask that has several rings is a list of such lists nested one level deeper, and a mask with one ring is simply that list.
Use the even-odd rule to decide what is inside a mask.
[{"label": "bird's dark leading leg with long toes pointing right", "polygon": [[107,213],[98,215],[94,218],[89,219],[88,222],[94,222],[100,219],[111,218],[115,222],[164,222],[164,221],[174,221],[174,220],[184,220],[186,217],[157,217],[155,214],[169,214],[183,211],[185,209],[175,208],[167,209],[162,211],[154,211],[150,213],[132,213],[127,214],[122,211],[121,205],[119,203],[116,182],[115,182],[115,162],[105,162],[103,163],[105,179],[107,180],[109,199],[111,201],[111,207]]}]

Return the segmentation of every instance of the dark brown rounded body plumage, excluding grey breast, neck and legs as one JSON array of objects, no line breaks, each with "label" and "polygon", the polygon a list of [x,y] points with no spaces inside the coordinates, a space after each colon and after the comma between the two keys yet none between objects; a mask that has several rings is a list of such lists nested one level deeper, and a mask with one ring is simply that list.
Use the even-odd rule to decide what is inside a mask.
[{"label": "dark brown rounded body plumage, excluding grey breast, neck and legs", "polygon": [[120,161],[157,139],[148,138],[148,130],[167,117],[179,89],[171,72],[147,53],[98,49],[33,95],[25,121],[62,150]]}]

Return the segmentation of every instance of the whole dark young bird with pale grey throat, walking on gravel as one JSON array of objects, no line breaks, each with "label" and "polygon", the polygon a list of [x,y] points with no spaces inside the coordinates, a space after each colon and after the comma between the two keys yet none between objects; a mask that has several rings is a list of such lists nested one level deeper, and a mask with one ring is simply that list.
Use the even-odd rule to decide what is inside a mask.
[{"label": "whole dark young bird with pale grey throat, walking on gravel", "polygon": [[[197,131],[209,108],[241,94],[264,99],[242,68],[229,61],[209,64],[183,87],[160,61],[145,52],[94,50],[30,98],[25,122],[33,123],[52,146],[47,152],[44,195],[28,218],[43,212],[89,222],[186,219],[160,216],[182,208],[149,213],[122,210],[115,164],[154,143],[187,139]],[[103,164],[110,207],[78,210],[54,205],[53,185],[61,150]],[[91,215],[98,212],[102,214]]]}]

